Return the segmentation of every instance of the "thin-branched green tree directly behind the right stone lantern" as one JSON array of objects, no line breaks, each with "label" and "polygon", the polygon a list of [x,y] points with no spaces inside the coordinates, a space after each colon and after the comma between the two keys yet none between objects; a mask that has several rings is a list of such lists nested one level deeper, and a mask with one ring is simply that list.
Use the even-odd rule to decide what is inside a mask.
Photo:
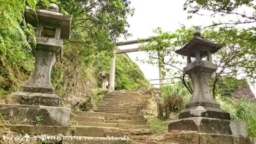
[{"label": "thin-branched green tree directly behind the right stone lantern", "polygon": [[[191,40],[194,29],[199,28],[182,26],[174,33],[163,32],[158,28],[154,32],[159,36],[148,44],[141,45],[141,47],[146,47],[150,54],[150,59],[145,61],[156,64],[154,61],[161,60],[165,72],[170,72],[173,79],[180,79],[191,93],[193,92],[191,82],[182,70],[186,66],[186,58],[178,56],[174,51]],[[255,83],[256,61],[253,57],[255,56],[256,44],[251,40],[254,36],[252,31],[234,27],[212,27],[202,31],[202,36],[222,46],[222,49],[216,52],[213,57],[213,62],[218,65],[218,70],[212,77],[212,95],[214,98],[216,97],[216,85],[221,77],[236,77],[243,74],[251,83]],[[156,56],[157,51],[163,52],[161,58]]]}]

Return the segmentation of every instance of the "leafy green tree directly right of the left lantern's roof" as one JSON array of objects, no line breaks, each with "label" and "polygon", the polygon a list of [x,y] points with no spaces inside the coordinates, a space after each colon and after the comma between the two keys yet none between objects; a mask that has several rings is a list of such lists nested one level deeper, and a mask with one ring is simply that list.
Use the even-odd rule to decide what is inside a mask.
[{"label": "leafy green tree directly right of the left lantern's roof", "polygon": [[73,15],[72,38],[65,44],[77,44],[79,54],[89,56],[100,51],[112,52],[118,37],[130,36],[127,16],[134,8],[129,0],[59,0],[63,13]]}]

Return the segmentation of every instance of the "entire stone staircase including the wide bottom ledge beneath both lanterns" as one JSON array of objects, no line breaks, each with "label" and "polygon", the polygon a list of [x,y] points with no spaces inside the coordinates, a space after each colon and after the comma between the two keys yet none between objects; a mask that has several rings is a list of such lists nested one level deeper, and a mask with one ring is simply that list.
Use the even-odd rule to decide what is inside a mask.
[{"label": "entire stone staircase including the wide bottom ledge beneath both lanterns", "polygon": [[[29,136],[60,137],[57,140],[47,141],[46,143],[49,144],[223,144],[223,141],[227,141],[227,144],[256,143],[255,138],[207,134],[197,131],[154,133],[147,125],[147,119],[143,115],[136,115],[135,112],[137,106],[142,108],[147,106],[147,95],[147,91],[109,93],[103,97],[98,109],[95,110],[100,112],[72,111],[68,127],[8,124],[5,127],[9,129],[0,132],[0,135],[11,131],[17,132],[17,134],[22,132]],[[115,138],[129,139],[115,140]],[[3,141],[0,139],[1,142]],[[8,143],[14,144],[17,141],[8,141]],[[31,144],[34,143],[31,142]]]}]

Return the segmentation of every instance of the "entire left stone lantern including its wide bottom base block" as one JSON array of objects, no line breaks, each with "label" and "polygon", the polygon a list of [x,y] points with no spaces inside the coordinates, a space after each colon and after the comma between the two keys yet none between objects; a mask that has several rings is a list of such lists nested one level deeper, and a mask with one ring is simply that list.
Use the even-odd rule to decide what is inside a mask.
[{"label": "entire left stone lantern including its wide bottom base block", "polygon": [[[70,38],[72,15],[58,13],[56,4],[36,12],[26,7],[25,15],[28,23],[36,28],[35,68],[19,92],[12,93],[11,104],[0,105],[0,113],[12,119],[13,124],[68,126],[70,109],[60,107],[60,97],[51,84],[51,70],[61,58],[60,38]],[[28,42],[33,45],[31,37]]]}]

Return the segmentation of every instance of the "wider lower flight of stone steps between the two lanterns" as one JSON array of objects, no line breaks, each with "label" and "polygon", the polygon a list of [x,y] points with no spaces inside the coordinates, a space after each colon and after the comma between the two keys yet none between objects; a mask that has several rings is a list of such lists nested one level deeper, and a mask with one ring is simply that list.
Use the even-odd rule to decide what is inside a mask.
[{"label": "wider lower flight of stone steps between the two lanterns", "polygon": [[129,134],[151,134],[153,132],[143,115],[73,111],[70,126],[122,129]]}]

